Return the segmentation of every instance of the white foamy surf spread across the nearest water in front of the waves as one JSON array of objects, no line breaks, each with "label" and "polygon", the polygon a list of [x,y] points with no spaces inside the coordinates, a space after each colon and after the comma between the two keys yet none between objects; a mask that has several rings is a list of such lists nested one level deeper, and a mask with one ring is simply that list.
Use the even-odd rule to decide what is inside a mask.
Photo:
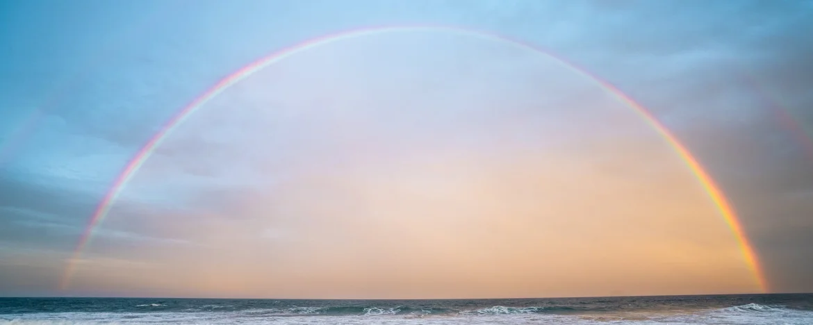
[{"label": "white foamy surf spread across the nearest water in front of the waves", "polygon": [[719,310],[685,314],[594,313],[546,314],[541,307],[505,307],[471,310],[460,314],[398,314],[398,307],[370,307],[359,315],[326,316],[315,307],[293,307],[280,310],[243,310],[235,312],[150,312],[150,313],[39,313],[2,314],[0,324],[84,325],[84,324],[813,324],[813,311],[793,310],[783,306],[748,304]]}]

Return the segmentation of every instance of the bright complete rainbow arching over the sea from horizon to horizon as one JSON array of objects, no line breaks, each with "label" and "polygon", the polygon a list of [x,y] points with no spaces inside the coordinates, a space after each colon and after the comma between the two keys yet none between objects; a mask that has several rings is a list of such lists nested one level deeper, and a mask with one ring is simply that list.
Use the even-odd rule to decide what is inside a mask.
[{"label": "bright complete rainbow arching over the sea from horizon to horizon", "polygon": [[550,58],[555,58],[564,67],[567,67],[573,72],[577,72],[582,76],[589,77],[589,80],[593,80],[596,85],[601,86],[608,93],[614,95],[615,98],[618,98],[620,101],[632,107],[633,110],[641,116],[641,118],[649,122],[651,127],[654,128],[654,130],[658,132],[661,137],[666,139],[668,144],[672,146],[680,159],[685,162],[687,167],[689,167],[689,170],[692,171],[693,174],[698,178],[702,188],[706,191],[706,193],[708,193],[709,197],[711,197],[711,201],[715,204],[716,209],[719,210],[720,215],[722,215],[725,220],[725,223],[727,223],[728,227],[732,230],[738,245],[740,245],[742,258],[744,258],[747,267],[749,267],[750,271],[754,275],[755,284],[759,287],[759,290],[762,292],[767,292],[767,284],[764,280],[765,278],[763,271],[759,265],[757,256],[754,254],[754,249],[751,247],[748,239],[746,238],[746,234],[743,231],[741,224],[737,220],[737,215],[735,215],[732,206],[723,196],[723,193],[715,184],[714,180],[712,180],[708,173],[703,170],[700,163],[698,163],[698,160],[692,156],[689,150],[686,149],[685,145],[681,144],[680,141],[678,141],[677,138],[658,121],[658,119],[655,119],[655,117],[646,110],[646,108],[635,102],[633,98],[629,98],[626,94],[622,93],[619,89],[615,88],[615,86],[611,85],[605,80],[602,80],[597,76],[593,76],[589,72],[586,72],[583,68],[577,67],[575,64],[567,61],[566,59],[560,58],[559,56],[550,53],[550,51],[541,49],[536,45],[525,41],[516,40],[511,37],[499,35],[494,32],[478,31],[469,28],[459,28],[446,25],[398,25],[357,28],[344,32],[337,32],[278,50],[270,55],[267,55],[266,57],[260,58],[259,60],[246,65],[246,67],[242,67],[241,69],[237,70],[237,72],[233,72],[231,75],[228,75],[222,80],[218,81],[210,89],[198,96],[198,98],[194,98],[192,102],[189,102],[189,105],[181,109],[175,116],[172,117],[172,119],[169,119],[167,123],[163,125],[163,128],[161,128],[159,132],[155,133],[154,137],[152,137],[150,141],[147,141],[146,144],[141,147],[141,150],[138,150],[138,152],[133,156],[132,160],[130,160],[130,162],[124,167],[124,170],[121,171],[120,176],[113,182],[111,189],[102,198],[102,201],[99,202],[98,207],[93,212],[93,216],[90,218],[85,232],[82,234],[78,244],[76,245],[72,258],[67,261],[67,267],[61,282],[61,288],[65,289],[69,286],[69,281],[76,267],[76,262],[80,259],[82,251],[92,238],[93,231],[107,217],[107,214],[111,208],[111,203],[114,202],[116,197],[121,193],[124,185],[128,183],[128,181],[133,177],[136,171],[138,171],[146,159],[150,158],[150,154],[153,153],[153,151],[161,144],[163,139],[167,137],[170,132],[172,132],[172,130],[174,130],[179,124],[183,123],[186,119],[189,119],[190,115],[192,115],[195,111],[198,111],[212,98],[215,98],[215,96],[223,93],[229,87],[237,84],[241,80],[245,80],[247,77],[254,74],[254,72],[258,72],[264,67],[268,67],[274,63],[279,63],[280,61],[284,60],[285,58],[289,58],[294,54],[302,53],[320,45],[327,45],[354,37],[364,37],[392,32],[416,31],[448,32],[462,34],[469,37],[478,37],[490,41],[501,41],[508,45],[512,45],[524,50],[531,50],[538,54],[546,55]]}]

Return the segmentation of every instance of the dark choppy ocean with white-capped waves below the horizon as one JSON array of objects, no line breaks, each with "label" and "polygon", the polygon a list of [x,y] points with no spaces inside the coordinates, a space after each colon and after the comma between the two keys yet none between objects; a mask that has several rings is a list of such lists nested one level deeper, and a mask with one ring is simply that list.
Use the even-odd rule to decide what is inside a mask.
[{"label": "dark choppy ocean with white-capped waves below the horizon", "polygon": [[477,300],[0,298],[0,324],[813,324],[813,294]]}]

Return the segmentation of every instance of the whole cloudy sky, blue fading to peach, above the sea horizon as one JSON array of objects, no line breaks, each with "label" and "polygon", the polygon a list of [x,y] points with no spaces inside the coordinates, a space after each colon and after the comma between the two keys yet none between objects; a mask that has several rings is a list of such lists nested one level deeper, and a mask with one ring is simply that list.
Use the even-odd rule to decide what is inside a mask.
[{"label": "whole cloudy sky, blue fading to peach, above the sea horizon", "polygon": [[[430,24],[459,29],[322,42],[224,89],[74,254],[222,78]],[[768,292],[813,292],[811,28],[801,0],[0,2],[0,296],[763,291],[668,139],[593,76],[719,185]]]}]

